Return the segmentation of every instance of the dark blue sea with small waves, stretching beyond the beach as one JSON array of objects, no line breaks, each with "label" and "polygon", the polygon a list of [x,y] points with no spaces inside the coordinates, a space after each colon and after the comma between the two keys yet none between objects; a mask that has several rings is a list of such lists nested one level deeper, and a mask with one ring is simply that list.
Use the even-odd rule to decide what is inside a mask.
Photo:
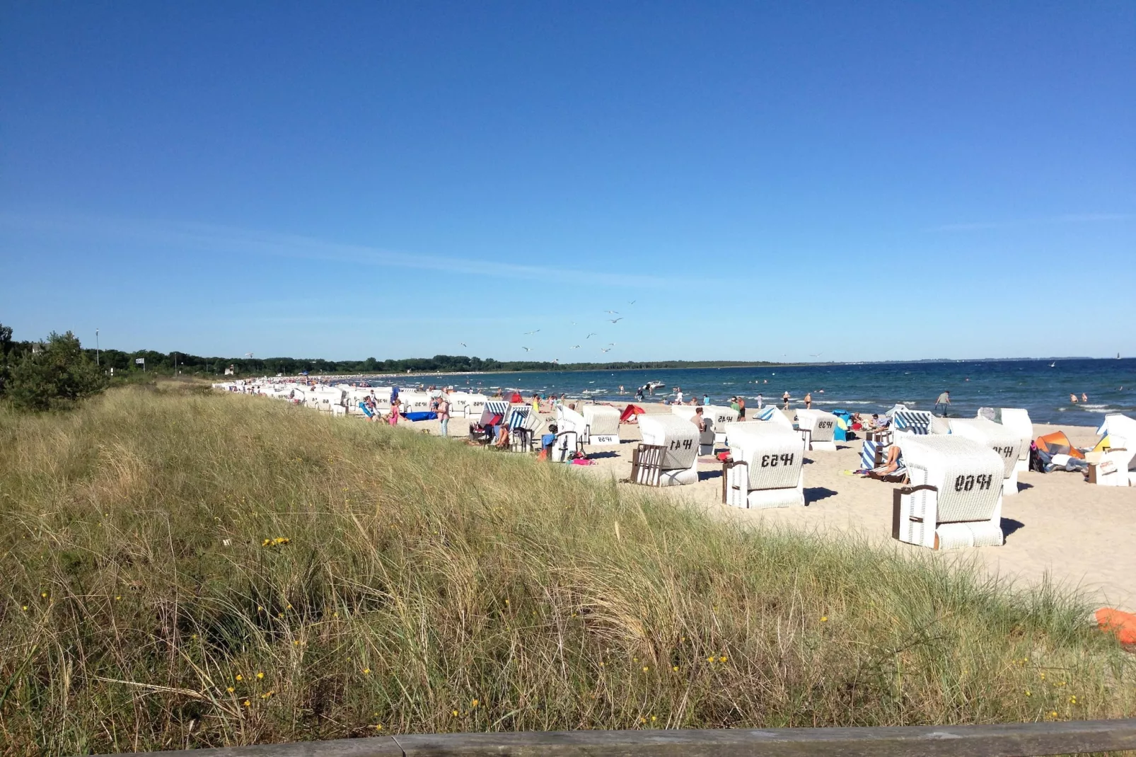
[{"label": "dark blue sea with small waves, stretching beyond the beach", "polygon": [[[538,393],[594,398],[612,404],[635,401],[635,390],[648,382],[662,386],[648,401],[709,397],[711,404],[745,398],[747,408],[780,402],[788,392],[800,407],[807,392],[813,407],[852,413],[883,413],[902,402],[933,409],[943,391],[951,392],[949,415],[974,417],[980,407],[1020,407],[1035,423],[1095,426],[1106,413],[1136,414],[1136,358],[958,360],[920,363],[850,363],[751,368],[665,368],[657,371],[554,371],[407,376],[400,385],[453,386],[494,393],[518,391],[525,399]],[[392,378],[375,377],[373,385]],[[1070,394],[1076,394],[1072,402]],[[1081,400],[1085,394],[1087,401]]]}]

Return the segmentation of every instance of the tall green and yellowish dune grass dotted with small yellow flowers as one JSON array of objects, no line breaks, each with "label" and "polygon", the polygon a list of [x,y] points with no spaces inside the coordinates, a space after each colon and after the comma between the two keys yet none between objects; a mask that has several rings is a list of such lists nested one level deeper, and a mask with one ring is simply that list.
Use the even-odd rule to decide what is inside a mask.
[{"label": "tall green and yellowish dune grass dotted with small yellow flowers", "polygon": [[1136,713],[1076,598],[267,399],[0,408],[0,744]]}]

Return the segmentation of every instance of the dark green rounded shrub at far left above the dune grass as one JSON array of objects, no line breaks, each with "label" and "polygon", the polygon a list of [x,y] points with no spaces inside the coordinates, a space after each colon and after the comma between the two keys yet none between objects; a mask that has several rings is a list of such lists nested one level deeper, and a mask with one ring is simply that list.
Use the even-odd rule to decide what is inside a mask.
[{"label": "dark green rounded shrub at far left above the dune grass", "polygon": [[6,393],[20,410],[68,409],[107,386],[102,372],[83,355],[72,332],[51,332],[42,349],[30,352],[11,369]]}]

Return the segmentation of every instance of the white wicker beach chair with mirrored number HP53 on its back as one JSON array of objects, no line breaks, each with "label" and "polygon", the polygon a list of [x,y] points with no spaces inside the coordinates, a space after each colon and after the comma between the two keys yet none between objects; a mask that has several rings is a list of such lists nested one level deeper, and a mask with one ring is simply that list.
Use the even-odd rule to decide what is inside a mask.
[{"label": "white wicker beach chair with mirrored number HP53 on its back", "polygon": [[724,467],[722,501],[733,507],[804,506],[804,442],[775,424],[736,424],[733,461]]}]

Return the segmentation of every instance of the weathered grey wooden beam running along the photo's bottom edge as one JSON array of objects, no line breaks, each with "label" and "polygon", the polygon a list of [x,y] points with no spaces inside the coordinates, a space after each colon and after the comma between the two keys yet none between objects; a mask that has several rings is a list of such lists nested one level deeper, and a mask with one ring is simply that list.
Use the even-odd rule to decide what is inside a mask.
[{"label": "weathered grey wooden beam running along the photo's bottom edge", "polygon": [[1136,718],[860,729],[535,731],[153,752],[166,757],[1036,757],[1136,750]]}]

